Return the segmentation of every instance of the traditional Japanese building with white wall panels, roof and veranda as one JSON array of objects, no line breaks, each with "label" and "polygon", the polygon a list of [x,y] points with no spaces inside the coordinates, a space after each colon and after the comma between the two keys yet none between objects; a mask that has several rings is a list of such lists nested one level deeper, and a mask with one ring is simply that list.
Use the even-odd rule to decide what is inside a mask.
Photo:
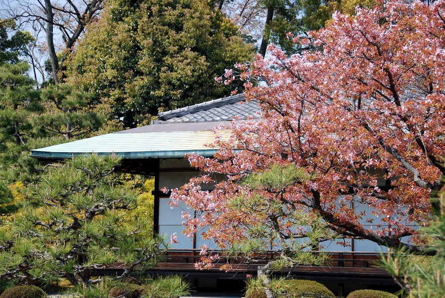
[{"label": "traditional Japanese building with white wall panels, roof and veranda", "polygon": [[[214,247],[209,241],[196,235],[193,240],[182,233],[181,206],[171,208],[169,198],[160,191],[180,187],[199,172],[191,168],[184,154],[195,152],[204,156],[213,156],[215,149],[204,146],[213,141],[212,128],[218,124],[228,124],[234,116],[240,119],[247,117],[260,118],[256,102],[245,102],[242,95],[215,99],[172,111],[159,113],[152,125],[128,129],[116,133],[92,137],[70,143],[32,150],[32,156],[42,160],[61,160],[73,156],[96,153],[99,155],[116,154],[122,157],[120,171],[152,175],[155,177],[155,210],[154,227],[158,233],[167,236],[177,233],[178,245],[172,250],[172,264],[158,268],[158,271],[177,270],[189,276],[213,272],[215,280],[234,278],[233,273],[225,274],[216,270],[207,273],[196,271],[193,263],[199,257],[197,250],[204,244]],[[221,132],[228,134],[228,132]],[[223,177],[221,177],[223,179]],[[382,183],[385,183],[384,181]],[[371,268],[379,247],[370,241],[349,240],[349,246],[331,244],[327,250],[333,252],[336,266],[327,268],[301,268],[300,274],[305,278],[329,281],[340,285],[364,283],[369,285],[392,285],[393,281],[383,269]],[[176,266],[176,267],[175,267]],[[218,266],[217,266],[218,267]],[[346,267],[348,269],[346,269]],[[245,273],[255,272],[253,265],[239,267],[237,278],[244,278]],[[339,293],[340,293],[339,292]]]}]

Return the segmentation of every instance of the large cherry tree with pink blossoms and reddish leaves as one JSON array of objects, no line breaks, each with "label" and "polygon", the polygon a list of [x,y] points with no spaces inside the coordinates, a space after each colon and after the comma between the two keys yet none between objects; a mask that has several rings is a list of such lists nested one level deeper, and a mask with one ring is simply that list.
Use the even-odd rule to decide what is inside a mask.
[{"label": "large cherry tree with pink blossoms and reddish leaves", "polygon": [[[209,174],[172,192],[197,214],[184,215],[186,231],[210,226],[204,237],[221,248],[245,240],[244,226],[257,215],[230,202],[258,195],[318,214],[345,237],[422,250],[403,237],[429,221],[430,198],[444,188],[444,5],[393,1],[355,17],[336,13],[311,34],[318,50],[288,57],[271,45],[270,57],[237,65],[263,119],[233,122],[231,137],[211,145],[220,148],[215,158],[189,156]],[[312,178],[278,190],[238,183],[270,164],[295,165]],[[285,221],[279,229],[298,233],[286,232]]]}]

